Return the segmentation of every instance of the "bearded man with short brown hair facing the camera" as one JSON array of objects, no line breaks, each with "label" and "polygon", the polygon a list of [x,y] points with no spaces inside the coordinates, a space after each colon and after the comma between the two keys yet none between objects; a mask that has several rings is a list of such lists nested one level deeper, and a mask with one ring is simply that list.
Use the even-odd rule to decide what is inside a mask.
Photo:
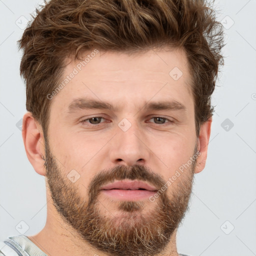
[{"label": "bearded man with short brown hair facing the camera", "polygon": [[0,255],[183,255],[221,25],[204,0],[51,0],[19,40],[22,136],[47,219]]}]

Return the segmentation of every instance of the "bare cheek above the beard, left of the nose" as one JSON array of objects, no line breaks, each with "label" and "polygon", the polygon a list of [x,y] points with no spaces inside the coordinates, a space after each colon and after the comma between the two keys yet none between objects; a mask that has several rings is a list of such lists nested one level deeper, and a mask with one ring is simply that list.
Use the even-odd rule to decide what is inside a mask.
[{"label": "bare cheek above the beard, left of the nose", "polygon": [[79,191],[84,190],[101,167],[99,163],[102,159],[99,158],[103,151],[100,149],[109,139],[107,136],[100,138],[82,132],[69,131],[66,134],[68,135],[61,136],[61,132],[55,134],[54,151],[52,151],[60,162],[63,175],[75,176],[75,178],[77,176],[75,184]]}]

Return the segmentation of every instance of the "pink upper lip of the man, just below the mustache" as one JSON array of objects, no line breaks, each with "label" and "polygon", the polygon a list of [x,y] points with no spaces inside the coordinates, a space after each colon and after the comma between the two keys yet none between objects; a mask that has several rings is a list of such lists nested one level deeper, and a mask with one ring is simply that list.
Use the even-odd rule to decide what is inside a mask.
[{"label": "pink upper lip of the man, just below the mustache", "polygon": [[157,189],[154,186],[151,186],[143,181],[138,180],[119,180],[113,183],[109,183],[101,186],[101,190],[110,190],[110,189],[123,189],[123,190],[148,190],[156,191]]}]

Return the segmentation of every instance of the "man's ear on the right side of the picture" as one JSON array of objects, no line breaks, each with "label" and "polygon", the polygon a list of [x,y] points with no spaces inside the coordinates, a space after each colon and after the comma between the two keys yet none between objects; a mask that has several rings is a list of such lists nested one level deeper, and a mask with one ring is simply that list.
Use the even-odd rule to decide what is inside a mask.
[{"label": "man's ear on the right side of the picture", "polygon": [[197,139],[197,150],[200,151],[196,160],[196,166],[194,173],[198,173],[203,170],[207,158],[208,143],[210,137],[212,118],[204,122],[200,127],[199,137]]}]

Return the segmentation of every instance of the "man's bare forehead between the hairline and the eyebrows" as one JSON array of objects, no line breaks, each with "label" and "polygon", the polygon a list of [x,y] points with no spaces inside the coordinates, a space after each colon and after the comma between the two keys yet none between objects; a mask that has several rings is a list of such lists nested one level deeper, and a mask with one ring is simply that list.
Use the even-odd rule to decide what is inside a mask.
[{"label": "man's bare forehead between the hairline and the eyebrows", "polygon": [[[192,97],[191,77],[182,49],[157,49],[135,54],[87,51],[79,60],[67,59],[62,75],[66,84],[53,101],[68,108],[75,98],[90,97],[133,104],[177,97]],[[70,76],[72,76],[70,78]],[[132,103],[132,100],[134,101]],[[52,104],[55,104],[52,102]]]}]

